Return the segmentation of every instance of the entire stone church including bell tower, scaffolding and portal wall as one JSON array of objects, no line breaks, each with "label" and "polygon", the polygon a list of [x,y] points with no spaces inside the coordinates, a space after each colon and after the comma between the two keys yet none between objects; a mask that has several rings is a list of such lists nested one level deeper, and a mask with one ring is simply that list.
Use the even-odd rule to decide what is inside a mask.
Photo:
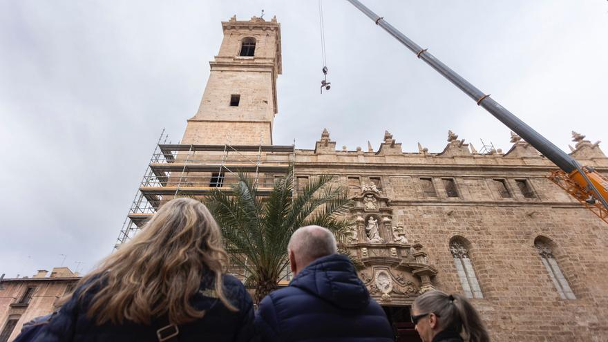
[{"label": "entire stone church including bell tower, scaffolding and portal wall", "polygon": [[[605,341],[608,223],[549,180],[557,167],[532,146],[513,134],[506,153],[478,152],[450,131],[444,151],[410,153],[387,131],[379,149],[348,151],[323,127],[314,149],[274,145],[281,25],[222,29],[200,108],[180,144],[159,144],[119,243],[172,196],[228,189],[236,170],[264,191],[294,164],[298,188],[326,174],[348,189],[356,224],[341,247],[399,341],[417,341],[408,310],[430,289],[471,298],[493,341]],[[607,174],[598,143],[573,137],[571,155]]]}]

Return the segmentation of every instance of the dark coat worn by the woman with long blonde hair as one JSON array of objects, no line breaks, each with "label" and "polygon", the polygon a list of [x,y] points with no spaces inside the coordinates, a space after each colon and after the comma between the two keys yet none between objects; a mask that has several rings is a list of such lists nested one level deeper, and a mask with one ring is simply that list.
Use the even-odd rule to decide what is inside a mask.
[{"label": "dark coat worn by the woman with long blonde hair", "polygon": [[[251,296],[240,281],[233,276],[224,276],[225,295],[238,312],[231,312],[218,298],[214,298],[213,275],[205,276],[200,283],[200,292],[191,303],[198,310],[207,310],[202,319],[180,325],[178,339],[184,341],[254,341],[254,310]],[[53,319],[37,335],[35,341],[158,341],[156,330],[162,327],[159,321],[153,325],[142,325],[126,321],[122,325],[105,323],[96,325],[88,319],[88,303],[96,293],[93,289],[84,298],[75,296],[66,302]],[[209,296],[208,296],[209,295]]]}]

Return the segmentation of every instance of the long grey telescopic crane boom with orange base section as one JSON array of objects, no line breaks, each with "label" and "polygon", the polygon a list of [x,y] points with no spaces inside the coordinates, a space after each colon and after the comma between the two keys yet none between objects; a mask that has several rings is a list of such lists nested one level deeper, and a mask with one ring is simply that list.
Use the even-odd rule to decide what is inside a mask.
[{"label": "long grey telescopic crane boom with orange base section", "polygon": [[[581,167],[581,165],[569,154],[562,151],[562,149],[558,148],[558,146],[555,146],[555,144],[547,140],[546,137],[543,137],[540,135],[540,133],[520,120],[519,117],[516,117],[498,102],[494,101],[489,94],[483,93],[462,76],[455,73],[454,70],[441,63],[441,61],[435,58],[435,56],[431,55],[426,48],[421,48],[414,41],[406,37],[406,35],[403,35],[403,33],[397,30],[397,28],[390,25],[390,23],[384,20],[383,17],[379,17],[379,15],[374,13],[372,10],[365,7],[365,5],[359,2],[359,0],[348,1],[352,3],[354,7],[361,10],[363,14],[370,17],[370,19],[372,19],[376,25],[386,30],[386,32],[392,35],[392,37],[395,37],[395,39],[400,41],[401,44],[405,45],[410,51],[412,51],[412,53],[415,53],[419,59],[425,61],[426,64],[428,64],[431,68],[435,69],[438,73],[446,77],[446,79],[457,86],[457,88],[471,97],[473,101],[477,102],[477,106],[482,106],[484,109],[486,109],[486,111],[490,112],[492,115],[494,115],[494,117],[500,120],[500,122],[509,127],[511,131],[522,137],[526,142],[542,153],[542,155],[557,165],[562,170],[562,173],[554,173],[553,178],[551,178],[553,182],[558,183],[558,179],[556,177],[559,177],[562,181],[569,180],[572,182],[570,186],[575,187],[576,191],[571,190],[570,188],[567,189],[567,187],[563,186],[562,184],[558,183],[558,185],[564,189],[567,189],[567,191],[573,194],[573,196],[575,196],[573,192],[577,192],[578,196],[575,197],[578,200],[581,200],[580,197],[586,194],[591,196],[591,198],[600,200],[603,208],[599,207],[599,209],[602,211],[602,213],[596,214],[598,214],[602,220],[608,222],[608,180],[604,176],[600,175],[600,173],[591,168]],[[589,204],[589,202],[587,202],[587,204]]]}]

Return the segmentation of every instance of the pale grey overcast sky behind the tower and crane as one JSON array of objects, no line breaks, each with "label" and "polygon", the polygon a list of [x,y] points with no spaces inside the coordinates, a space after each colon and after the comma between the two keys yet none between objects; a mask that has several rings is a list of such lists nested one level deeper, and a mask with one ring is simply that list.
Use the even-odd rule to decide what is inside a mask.
[{"label": "pale grey overcast sky behind the tower and crane", "polygon": [[[560,148],[571,130],[608,142],[608,1],[363,3]],[[452,129],[509,149],[509,129],[350,3],[323,7],[320,95],[317,1],[0,0],[0,274],[86,272],[111,253],[160,132],[177,142],[196,113],[232,15],[281,22],[274,144],[312,149],[327,128],[339,149],[377,149],[388,130],[403,151],[439,152]]]}]

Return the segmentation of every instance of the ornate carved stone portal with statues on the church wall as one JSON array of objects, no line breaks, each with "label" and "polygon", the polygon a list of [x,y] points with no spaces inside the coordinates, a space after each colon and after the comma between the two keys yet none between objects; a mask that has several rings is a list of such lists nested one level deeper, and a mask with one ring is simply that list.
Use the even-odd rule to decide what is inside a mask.
[{"label": "ornate carved stone portal with statues on the church wall", "polygon": [[363,184],[353,200],[355,225],[343,243],[372,297],[385,305],[410,305],[433,289],[437,270],[428,265],[422,245],[408,242],[403,225],[392,225],[390,200],[373,184]]}]

